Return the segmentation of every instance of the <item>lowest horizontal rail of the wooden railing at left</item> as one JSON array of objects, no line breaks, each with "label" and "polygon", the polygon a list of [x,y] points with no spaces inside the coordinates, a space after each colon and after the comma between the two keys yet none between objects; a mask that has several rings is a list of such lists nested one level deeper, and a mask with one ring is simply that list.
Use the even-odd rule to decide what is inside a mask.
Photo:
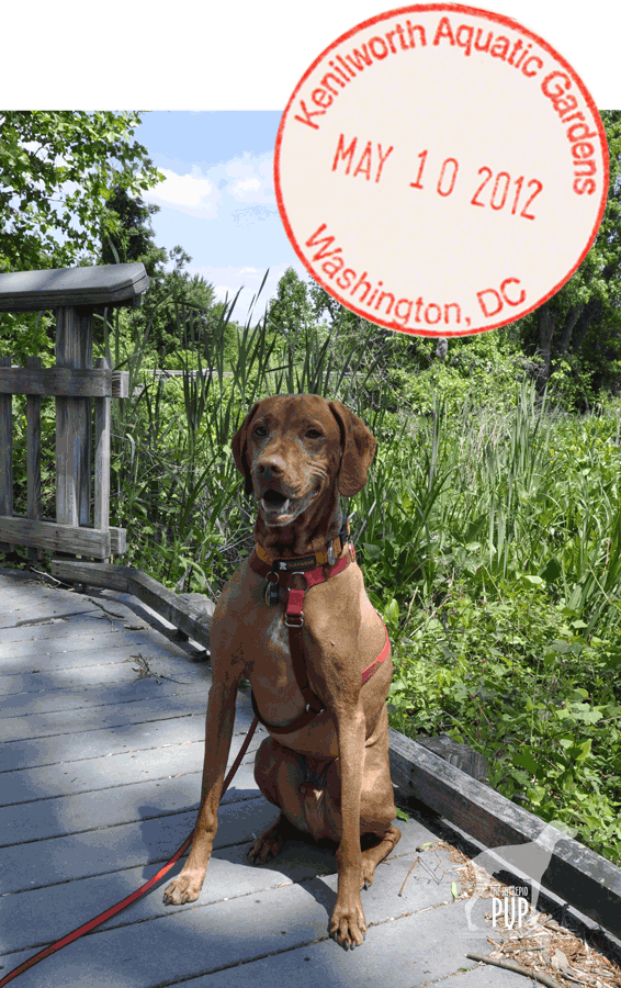
[{"label": "lowest horizontal rail of the wooden railing at left", "polygon": [[122,555],[126,551],[124,528],[99,531],[89,527],[61,525],[57,521],[32,521],[30,518],[0,516],[0,540],[19,546],[34,546],[48,552],[69,552],[106,559],[111,552]]}]

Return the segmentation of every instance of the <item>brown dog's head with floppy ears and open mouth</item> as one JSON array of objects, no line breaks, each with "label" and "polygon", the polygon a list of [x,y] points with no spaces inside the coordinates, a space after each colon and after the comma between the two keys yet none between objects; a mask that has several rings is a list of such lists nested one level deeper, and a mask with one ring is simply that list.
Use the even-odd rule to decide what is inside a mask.
[{"label": "brown dog's head with floppy ears and open mouth", "polygon": [[289,525],[326,494],[358,494],[376,442],[353,412],[316,394],[279,394],[252,406],[233,456],[266,524]]}]

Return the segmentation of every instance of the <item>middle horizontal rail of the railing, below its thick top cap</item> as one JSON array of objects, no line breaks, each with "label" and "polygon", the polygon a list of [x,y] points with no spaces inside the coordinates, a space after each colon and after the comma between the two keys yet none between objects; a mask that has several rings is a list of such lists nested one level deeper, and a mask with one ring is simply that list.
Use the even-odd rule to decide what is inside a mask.
[{"label": "middle horizontal rail of the railing, below its thick top cap", "polygon": [[[30,361],[38,363],[31,368]],[[26,358],[27,368],[0,370],[0,394],[32,394],[57,397],[111,397],[112,371],[94,368],[44,367],[41,358]],[[41,369],[36,369],[41,368]],[[120,371],[118,374],[126,371]],[[121,382],[120,382],[121,386]]]}]

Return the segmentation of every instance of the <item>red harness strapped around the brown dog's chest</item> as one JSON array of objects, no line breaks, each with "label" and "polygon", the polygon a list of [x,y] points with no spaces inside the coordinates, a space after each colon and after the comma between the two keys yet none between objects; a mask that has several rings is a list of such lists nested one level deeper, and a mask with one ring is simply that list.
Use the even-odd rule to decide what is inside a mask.
[{"label": "red harness strapped around the brown dog's chest", "polygon": [[[338,576],[343,570],[347,570],[350,562],[355,562],[355,552],[351,542],[343,547],[342,555],[331,566],[326,565],[325,560],[330,558],[326,553],[317,553],[316,555],[305,557],[304,559],[272,559],[266,550],[257,544],[249,560],[249,566],[255,573],[267,577],[266,602],[268,604],[276,604],[279,600],[278,587],[282,586],[289,591],[289,599],[284,611],[284,622],[289,628],[289,645],[291,650],[291,662],[293,673],[295,675],[297,686],[304,699],[305,709],[284,727],[274,727],[267,723],[259,714],[255,694],[250,694],[252,700],[252,709],[255,716],[259,718],[263,727],[272,734],[289,734],[292,731],[298,731],[306,727],[315,717],[321,714],[326,708],[321,700],[313,693],[308,683],[308,671],[304,660],[304,651],[302,647],[302,628],[304,626],[304,595],[318,583],[325,583],[332,576]],[[330,550],[332,547],[330,546]],[[330,551],[328,550],[328,551]],[[334,555],[331,557],[334,558]],[[317,565],[321,561],[323,565]],[[306,587],[297,590],[289,585],[292,575],[304,576]],[[362,683],[366,683],[371,676],[377,672],[382,662],[387,658],[391,651],[391,642],[388,641],[388,631],[386,629],[386,641],[384,648],[374,662],[369,665],[362,673]]]}]

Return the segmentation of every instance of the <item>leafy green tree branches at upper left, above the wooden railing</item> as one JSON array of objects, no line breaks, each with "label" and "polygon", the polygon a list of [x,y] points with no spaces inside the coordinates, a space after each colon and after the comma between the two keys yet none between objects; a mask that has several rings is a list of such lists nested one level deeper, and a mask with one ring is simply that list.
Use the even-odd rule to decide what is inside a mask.
[{"label": "leafy green tree branches at upper left, above the wooden railing", "polygon": [[95,255],[115,189],[161,181],[134,133],[140,114],[0,112],[0,271],[64,267]]}]

